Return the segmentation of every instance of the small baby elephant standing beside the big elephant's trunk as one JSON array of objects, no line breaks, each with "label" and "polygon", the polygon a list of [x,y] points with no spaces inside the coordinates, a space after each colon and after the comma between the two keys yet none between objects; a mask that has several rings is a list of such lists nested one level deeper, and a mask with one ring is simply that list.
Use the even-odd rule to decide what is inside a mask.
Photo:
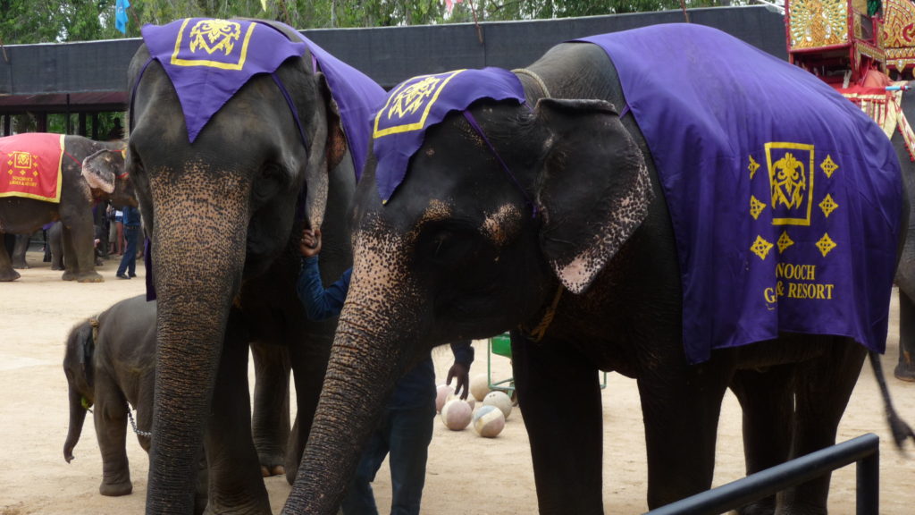
[{"label": "small baby elephant standing beside the big elephant's trunk", "polygon": [[[70,399],[70,427],[63,456],[70,463],[92,409],[102,452],[103,496],[125,496],[134,487],[124,447],[127,422],[149,451],[156,389],[156,301],[138,295],[116,302],[78,323],[67,336],[64,373]],[[131,409],[136,410],[136,420]],[[198,477],[195,512],[206,506],[206,467]]]}]

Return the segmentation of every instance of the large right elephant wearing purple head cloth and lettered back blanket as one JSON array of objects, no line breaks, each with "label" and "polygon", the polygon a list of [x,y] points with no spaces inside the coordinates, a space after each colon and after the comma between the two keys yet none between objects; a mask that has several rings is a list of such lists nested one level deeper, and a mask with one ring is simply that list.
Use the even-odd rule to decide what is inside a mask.
[{"label": "large right elephant wearing purple head cloth and lettered back blanket", "polygon": [[[893,148],[824,82],[709,27],[404,82],[372,145],[285,513],[337,510],[394,380],[454,339],[511,329],[540,511],[579,514],[604,507],[599,370],[638,381],[653,509],[711,487],[728,387],[750,474],[834,444],[866,345],[885,345],[909,217]],[[740,512],[822,514],[828,490],[827,475]]]}]

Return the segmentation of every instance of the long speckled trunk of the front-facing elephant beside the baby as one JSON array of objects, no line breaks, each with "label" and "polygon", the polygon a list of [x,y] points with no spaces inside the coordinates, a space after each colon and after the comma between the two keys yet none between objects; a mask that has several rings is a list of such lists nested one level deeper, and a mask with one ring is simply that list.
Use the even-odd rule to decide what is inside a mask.
[{"label": "long speckled trunk of the front-facing elephant beside the baby", "polygon": [[[225,326],[242,279],[248,213],[208,201],[194,210],[154,204],[156,389],[146,512],[191,513]],[[191,211],[200,216],[188,217]]]}]

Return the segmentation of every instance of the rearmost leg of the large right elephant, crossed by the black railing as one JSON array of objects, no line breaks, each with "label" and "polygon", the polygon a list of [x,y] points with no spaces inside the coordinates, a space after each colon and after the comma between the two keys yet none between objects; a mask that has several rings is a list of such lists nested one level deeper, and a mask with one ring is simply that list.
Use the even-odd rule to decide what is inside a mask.
[{"label": "rearmost leg of the large right elephant, crossed by the black railing", "polygon": [[[793,459],[835,444],[839,421],[867,357],[862,345],[833,338],[830,352],[796,367]],[[831,474],[779,494],[779,513],[825,515]]]}]

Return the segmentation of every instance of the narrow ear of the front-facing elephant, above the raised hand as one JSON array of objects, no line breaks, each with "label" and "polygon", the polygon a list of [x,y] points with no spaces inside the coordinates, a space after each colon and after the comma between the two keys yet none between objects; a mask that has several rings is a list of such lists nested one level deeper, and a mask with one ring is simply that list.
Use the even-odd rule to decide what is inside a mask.
[{"label": "narrow ear of the front-facing elephant, above the raised hand", "polygon": [[[324,221],[324,212],[328,206],[330,172],[339,166],[347,151],[339,106],[330,94],[327,77],[323,73],[317,73],[316,81],[318,94],[325,106],[325,120],[318,120],[318,130],[315,132],[315,142],[308,155],[306,171],[305,212],[312,228],[320,227]],[[320,113],[321,110],[318,109],[316,112]],[[321,126],[326,130],[322,130]]]}]

